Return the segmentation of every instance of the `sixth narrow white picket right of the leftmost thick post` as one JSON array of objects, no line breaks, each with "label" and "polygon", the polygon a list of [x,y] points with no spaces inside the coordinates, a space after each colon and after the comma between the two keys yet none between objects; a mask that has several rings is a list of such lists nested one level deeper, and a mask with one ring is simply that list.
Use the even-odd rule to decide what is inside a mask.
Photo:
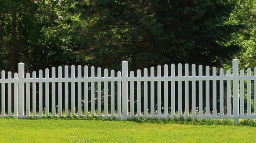
[{"label": "sixth narrow white picket right of the leftmost thick post", "polygon": [[[58,78],[62,79],[62,67],[58,67]],[[62,83],[58,82],[58,113],[62,116]]]}]

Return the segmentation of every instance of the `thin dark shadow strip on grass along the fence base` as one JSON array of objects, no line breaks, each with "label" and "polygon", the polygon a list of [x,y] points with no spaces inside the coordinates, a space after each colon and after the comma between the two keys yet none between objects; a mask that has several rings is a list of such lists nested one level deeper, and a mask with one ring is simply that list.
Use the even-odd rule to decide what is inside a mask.
[{"label": "thin dark shadow strip on grass along the fence base", "polygon": [[132,118],[127,120],[116,119],[116,118],[101,118],[95,116],[89,117],[29,117],[25,118],[28,120],[42,120],[42,119],[53,119],[53,120],[84,120],[84,121],[120,121],[120,122],[136,122],[136,123],[157,123],[157,124],[181,124],[181,125],[248,125],[256,127],[255,119],[240,120],[239,123],[234,124],[232,119],[144,119],[144,118]]}]

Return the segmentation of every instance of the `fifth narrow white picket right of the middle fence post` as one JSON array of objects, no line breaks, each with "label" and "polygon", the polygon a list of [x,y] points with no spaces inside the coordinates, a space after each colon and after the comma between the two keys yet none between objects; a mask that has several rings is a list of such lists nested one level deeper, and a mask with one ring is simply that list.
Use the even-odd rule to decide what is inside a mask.
[{"label": "fifth narrow white picket right of the middle fence post", "polygon": [[[162,77],[161,75],[161,66],[157,66],[157,77]],[[157,115],[160,116],[162,115],[162,99],[161,99],[161,81],[157,81]]]}]

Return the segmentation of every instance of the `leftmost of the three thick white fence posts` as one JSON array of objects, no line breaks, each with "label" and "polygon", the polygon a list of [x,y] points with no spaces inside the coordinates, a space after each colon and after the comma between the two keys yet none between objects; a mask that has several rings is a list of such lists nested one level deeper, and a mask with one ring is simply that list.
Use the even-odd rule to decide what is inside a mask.
[{"label": "leftmost of the three thick white fence posts", "polygon": [[25,77],[25,68],[24,63],[18,64],[18,117],[24,117],[24,77]]}]

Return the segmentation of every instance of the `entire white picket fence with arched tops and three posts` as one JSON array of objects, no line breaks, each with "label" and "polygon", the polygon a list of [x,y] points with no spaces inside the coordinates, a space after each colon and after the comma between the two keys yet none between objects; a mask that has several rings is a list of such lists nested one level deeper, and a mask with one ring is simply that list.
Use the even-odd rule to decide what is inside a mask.
[{"label": "entire white picket fence with arched tops and three posts", "polygon": [[[203,72],[202,65],[198,66],[198,74],[196,74],[194,64],[190,70],[189,65],[185,64],[184,74],[182,74],[182,64],[178,64],[178,72],[175,72],[177,71],[175,68],[174,64],[170,68],[168,65],[164,65],[164,74],[162,74],[162,67],[158,66],[157,75],[155,75],[154,67],[152,67],[150,76],[148,76],[148,69],[145,68],[144,76],[141,75],[140,70],[136,71],[135,76],[134,71],[128,75],[128,62],[123,61],[122,73],[118,71],[117,76],[114,70],[110,71],[109,76],[107,69],[104,69],[104,76],[102,76],[101,68],[97,69],[97,76],[95,76],[93,66],[89,73],[88,66],[84,66],[82,69],[82,66],[75,67],[73,65],[71,66],[71,77],[68,73],[68,66],[64,67],[64,77],[62,77],[62,67],[60,66],[58,67],[58,77],[56,77],[56,69],[52,68],[51,77],[49,69],[46,69],[44,76],[42,70],[39,71],[38,77],[36,71],[33,71],[31,78],[30,73],[26,73],[25,77],[24,64],[19,63],[18,73],[14,73],[14,77],[11,77],[9,71],[8,78],[5,78],[5,71],[2,71],[0,116],[92,115],[120,119],[184,117],[234,119],[234,122],[238,122],[238,119],[256,119],[256,108],[251,111],[252,106],[256,105],[256,84],[254,84],[254,99],[251,99],[251,80],[255,81],[256,75],[251,75],[250,68],[247,70],[247,75],[244,75],[243,70],[240,70],[239,75],[238,60],[233,60],[232,75],[230,70],[227,70],[225,74],[223,69],[220,69],[217,75],[216,68],[212,68],[212,74],[210,74],[209,66],[206,66]],[[169,69],[171,75],[168,75]],[[84,74],[82,74],[82,70]],[[191,71],[191,75],[189,71]],[[247,94],[244,93],[244,81],[247,83]],[[12,90],[12,88],[14,89]],[[62,88],[64,89],[62,90]],[[7,92],[6,89],[8,89]],[[176,89],[178,91],[175,91]],[[62,93],[63,91],[64,93]],[[32,98],[30,93],[32,93]],[[244,105],[245,95],[247,106]],[[64,99],[62,99],[63,97]],[[178,100],[175,99],[176,97]],[[71,103],[69,99],[71,99]],[[32,106],[30,102],[32,102]],[[12,103],[14,103],[13,106]]]}]

